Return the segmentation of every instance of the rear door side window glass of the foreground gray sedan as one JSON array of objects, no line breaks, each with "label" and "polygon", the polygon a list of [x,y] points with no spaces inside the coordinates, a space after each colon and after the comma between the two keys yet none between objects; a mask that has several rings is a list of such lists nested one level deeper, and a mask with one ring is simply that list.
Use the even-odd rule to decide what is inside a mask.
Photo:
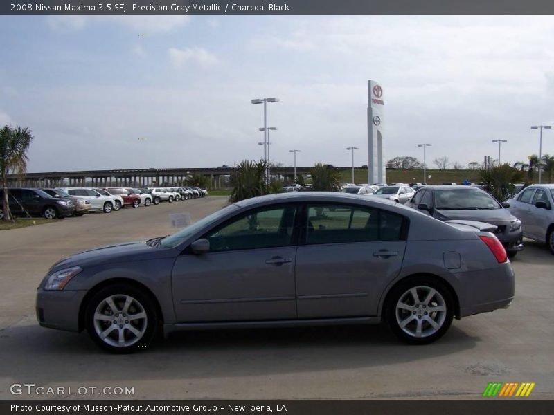
[{"label": "rear door side window glass of the foreground gray sedan", "polygon": [[352,205],[308,205],[304,241],[354,243],[401,239],[402,216]]}]

